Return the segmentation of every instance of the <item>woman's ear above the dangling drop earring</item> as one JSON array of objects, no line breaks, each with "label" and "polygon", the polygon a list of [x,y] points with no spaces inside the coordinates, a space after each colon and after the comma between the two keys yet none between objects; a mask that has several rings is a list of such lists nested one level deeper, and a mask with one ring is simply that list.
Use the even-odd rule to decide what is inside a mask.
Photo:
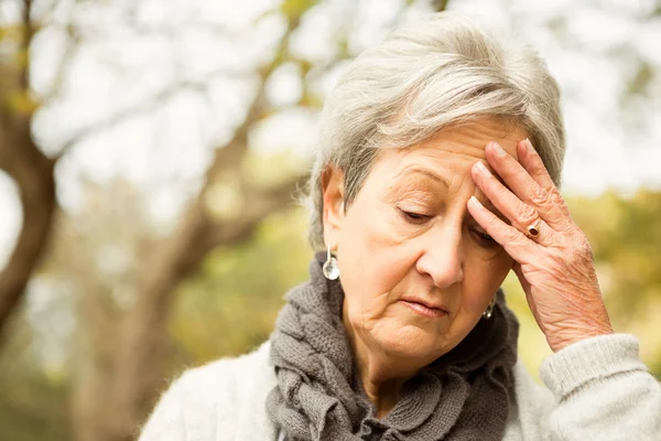
[{"label": "woman's ear above the dangling drop earring", "polygon": [[328,165],[322,175],[322,195],[324,201],[324,243],[330,248],[337,246],[344,214],[344,172],[335,165]]}]

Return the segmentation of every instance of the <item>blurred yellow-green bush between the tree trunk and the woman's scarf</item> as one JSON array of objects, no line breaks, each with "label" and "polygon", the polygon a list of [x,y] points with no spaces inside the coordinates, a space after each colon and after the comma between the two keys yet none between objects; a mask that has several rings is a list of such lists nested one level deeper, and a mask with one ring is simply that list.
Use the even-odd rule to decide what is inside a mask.
[{"label": "blurred yellow-green bush between the tree trunk and the woman's scarf", "polygon": [[285,292],[307,278],[303,232],[300,213],[272,215],[254,240],[215,251],[180,288],[170,330],[191,364],[239,355],[269,337]]}]

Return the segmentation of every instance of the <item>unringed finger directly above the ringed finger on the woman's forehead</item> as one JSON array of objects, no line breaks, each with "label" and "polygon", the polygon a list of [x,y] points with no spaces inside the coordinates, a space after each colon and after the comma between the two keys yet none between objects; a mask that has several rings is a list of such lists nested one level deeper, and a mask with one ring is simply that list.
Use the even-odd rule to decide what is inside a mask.
[{"label": "unringed finger directly above the ringed finger on the woman's forehead", "polygon": [[532,206],[553,229],[564,230],[566,215],[560,209],[551,193],[541,187],[528,171],[502,148],[490,142],[486,148],[487,161],[521,201]]}]

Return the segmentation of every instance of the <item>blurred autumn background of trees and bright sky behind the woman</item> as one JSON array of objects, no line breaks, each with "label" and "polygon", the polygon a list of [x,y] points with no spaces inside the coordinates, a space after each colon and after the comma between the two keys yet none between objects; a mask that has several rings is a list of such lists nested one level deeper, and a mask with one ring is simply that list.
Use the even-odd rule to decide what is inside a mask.
[{"label": "blurred autumn background of trees and bright sky behind the woman", "polygon": [[[564,94],[563,193],[661,374],[661,3],[0,0],[0,440],[136,437],[184,368],[268,338],[306,279],[325,95],[393,26],[496,17]],[[549,355],[516,277],[533,376]]]}]

